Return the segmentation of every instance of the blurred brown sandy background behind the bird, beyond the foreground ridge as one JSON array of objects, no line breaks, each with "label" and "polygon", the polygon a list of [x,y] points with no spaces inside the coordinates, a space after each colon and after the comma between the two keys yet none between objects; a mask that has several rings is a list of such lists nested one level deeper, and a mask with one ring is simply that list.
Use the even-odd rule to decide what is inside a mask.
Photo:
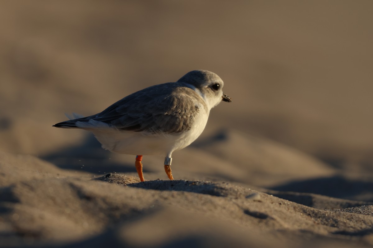
[{"label": "blurred brown sandy background behind the bird, beyond the foreground ridge", "polygon": [[[0,1],[0,151],[135,175],[133,156],[52,125],[203,69],[233,102],[173,154],[176,178],[373,201],[372,9],[368,0]],[[166,178],[162,158],[144,160],[146,179]],[[295,185],[304,178],[317,187]],[[327,191],[334,184],[360,188]]]}]

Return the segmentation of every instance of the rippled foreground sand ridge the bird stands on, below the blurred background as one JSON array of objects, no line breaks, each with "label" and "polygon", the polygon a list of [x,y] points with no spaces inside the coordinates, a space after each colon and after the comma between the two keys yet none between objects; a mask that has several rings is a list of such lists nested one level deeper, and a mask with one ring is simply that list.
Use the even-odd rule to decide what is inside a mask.
[{"label": "rippled foreground sand ridge the bird stands on, below the blurred background", "polygon": [[[1,153],[2,246],[370,246],[372,202],[57,168]],[[146,176],[147,174],[145,174]]]}]

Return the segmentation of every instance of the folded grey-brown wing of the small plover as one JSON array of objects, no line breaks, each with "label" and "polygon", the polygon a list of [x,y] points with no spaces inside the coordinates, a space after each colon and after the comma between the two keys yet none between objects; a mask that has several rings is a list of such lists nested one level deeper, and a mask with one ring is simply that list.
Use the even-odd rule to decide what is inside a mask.
[{"label": "folded grey-brown wing of the small plover", "polygon": [[201,108],[207,110],[194,90],[179,83],[166,83],[137,91],[97,115],[76,121],[135,132],[179,133],[192,127]]}]

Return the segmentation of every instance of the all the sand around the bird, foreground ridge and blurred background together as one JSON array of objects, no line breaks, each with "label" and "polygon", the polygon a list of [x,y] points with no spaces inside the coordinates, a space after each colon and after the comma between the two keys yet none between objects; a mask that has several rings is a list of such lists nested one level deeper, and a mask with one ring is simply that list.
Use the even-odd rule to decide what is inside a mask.
[{"label": "all the sand around the bird, foreground ridge and blurred background together", "polygon": [[[370,1],[3,1],[0,247],[372,247]],[[53,128],[190,70],[232,103],[163,158]]]}]

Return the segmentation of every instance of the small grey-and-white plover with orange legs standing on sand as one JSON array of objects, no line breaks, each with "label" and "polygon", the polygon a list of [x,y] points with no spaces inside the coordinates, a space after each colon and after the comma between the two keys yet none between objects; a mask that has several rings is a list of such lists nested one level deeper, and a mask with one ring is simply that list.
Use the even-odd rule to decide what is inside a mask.
[{"label": "small grey-and-white plover with orange legs standing on sand", "polygon": [[[104,149],[137,155],[135,166],[140,181],[142,155],[164,156],[170,180],[171,154],[190,145],[206,126],[210,110],[222,101],[223,81],[210,71],[195,70],[175,83],[158,84],[137,91],[88,117],[73,115],[57,128],[80,128],[93,132]],[[138,155],[142,154],[142,155]]]}]

